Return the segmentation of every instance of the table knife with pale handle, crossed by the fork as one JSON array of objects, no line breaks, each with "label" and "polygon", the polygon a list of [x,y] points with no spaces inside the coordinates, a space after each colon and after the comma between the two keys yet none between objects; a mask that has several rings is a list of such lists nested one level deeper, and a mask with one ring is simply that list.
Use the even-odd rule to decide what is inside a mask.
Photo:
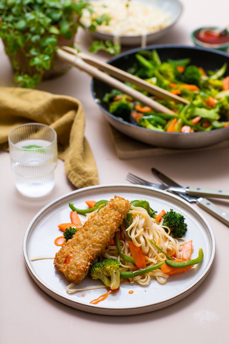
[{"label": "table knife with pale handle, crossed by the fork", "polygon": [[[168,176],[164,175],[160,171],[152,168],[151,169],[152,174],[154,177],[160,181],[164,186],[167,186],[168,188],[170,186],[176,186],[176,187],[181,187],[178,183],[174,182],[172,179],[170,179]],[[184,198],[184,195],[179,194]],[[196,204],[204,209],[206,212],[217,218],[219,221],[224,223],[225,225],[229,226],[229,214],[226,213],[223,209],[220,207],[216,206],[213,202],[207,200],[207,198],[203,197],[194,197],[194,196],[187,196],[185,195],[185,199],[188,202],[196,202]]]}]

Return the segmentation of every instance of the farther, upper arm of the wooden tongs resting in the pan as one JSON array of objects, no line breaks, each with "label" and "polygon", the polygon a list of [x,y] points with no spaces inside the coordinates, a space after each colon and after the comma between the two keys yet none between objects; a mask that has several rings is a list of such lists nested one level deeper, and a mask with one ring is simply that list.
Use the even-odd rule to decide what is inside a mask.
[{"label": "farther, upper arm of the wooden tongs resting in the pan", "polygon": [[96,58],[94,58],[93,56],[84,54],[84,53],[78,53],[76,49],[70,48],[68,46],[62,46],[61,47],[62,50],[68,51],[71,54],[74,55],[78,55],[82,58],[82,60],[84,62],[89,63],[90,65],[99,68],[101,71],[106,72],[116,78],[119,78],[123,81],[126,82],[130,82],[132,84],[135,84],[138,87],[143,88],[144,90],[146,90],[147,92],[149,92],[150,94],[153,94],[159,98],[162,99],[168,99],[168,100],[173,100],[175,101],[175,103],[181,103],[181,104],[189,104],[189,101],[179,97],[175,94],[172,94],[171,92],[168,92],[167,90],[158,87],[156,85],[152,85],[150,83],[148,83],[147,81],[132,75],[130,73],[127,73],[125,71],[123,71],[122,69],[119,69],[117,67],[114,67],[108,63],[105,63],[103,61],[100,61]]}]

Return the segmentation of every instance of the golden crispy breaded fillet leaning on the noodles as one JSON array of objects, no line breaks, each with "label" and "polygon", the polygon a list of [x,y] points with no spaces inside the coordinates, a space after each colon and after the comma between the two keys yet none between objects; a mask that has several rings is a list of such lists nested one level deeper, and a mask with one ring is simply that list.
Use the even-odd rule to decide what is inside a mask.
[{"label": "golden crispy breaded fillet leaning on the noodles", "polygon": [[89,217],[83,227],[57,252],[54,265],[66,279],[79,284],[92,262],[104,252],[128,213],[130,203],[122,197],[114,199]]}]

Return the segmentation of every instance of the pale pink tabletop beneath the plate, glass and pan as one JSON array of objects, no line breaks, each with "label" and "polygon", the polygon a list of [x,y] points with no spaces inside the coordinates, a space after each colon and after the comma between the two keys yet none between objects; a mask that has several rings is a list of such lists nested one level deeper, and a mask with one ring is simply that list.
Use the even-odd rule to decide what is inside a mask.
[{"label": "pale pink tabletop beneath the plate, glass and pan", "polygon": [[[228,24],[225,0],[217,2],[182,1],[184,11],[179,22],[157,44],[191,45],[190,32],[203,25]],[[225,9],[225,10],[224,10]],[[78,39],[87,51],[88,36]],[[100,54],[105,60],[108,56]],[[0,79],[2,85],[12,82],[9,60],[0,42]],[[87,137],[99,172],[100,184],[127,183],[127,172],[156,182],[151,167],[169,173],[183,186],[201,185],[229,189],[229,149],[190,154],[164,155],[156,158],[120,160],[114,150],[108,124],[90,93],[90,77],[72,69],[58,79],[41,83],[38,89],[78,98],[84,107]],[[48,202],[75,187],[67,180],[64,164],[58,161],[56,186],[48,196],[28,199],[15,189],[9,154],[0,152],[1,209],[1,343],[137,343],[141,340],[161,344],[214,343],[226,338],[228,329],[229,228],[211,215],[195,209],[211,224],[216,237],[216,257],[205,281],[182,301],[159,311],[124,317],[94,315],[65,306],[49,297],[31,279],[24,264],[22,240],[33,216]],[[215,200],[229,213],[229,202]]]}]

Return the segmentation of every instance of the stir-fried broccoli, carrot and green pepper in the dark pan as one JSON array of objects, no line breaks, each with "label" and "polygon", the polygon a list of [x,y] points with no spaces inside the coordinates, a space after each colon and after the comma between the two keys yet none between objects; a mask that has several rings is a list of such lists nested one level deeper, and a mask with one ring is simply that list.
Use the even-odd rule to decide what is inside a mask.
[{"label": "stir-fried broccoli, carrot and green pepper in the dark pan", "polygon": [[[139,51],[128,72],[147,82],[190,101],[188,106],[172,100],[155,98],[176,115],[161,114],[135,101],[119,90],[106,93],[103,101],[110,112],[140,127],[165,132],[192,133],[229,126],[229,76],[227,63],[216,71],[204,71],[191,64],[189,58],[161,61],[156,50]],[[152,96],[136,85],[127,83],[145,95]]]}]

